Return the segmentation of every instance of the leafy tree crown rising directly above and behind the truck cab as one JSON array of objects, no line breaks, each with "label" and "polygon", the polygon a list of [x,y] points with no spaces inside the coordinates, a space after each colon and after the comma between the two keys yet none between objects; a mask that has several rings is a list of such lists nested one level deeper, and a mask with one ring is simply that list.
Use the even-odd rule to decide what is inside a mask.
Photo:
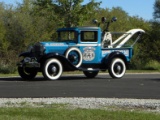
[{"label": "leafy tree crown rising directly above and behind the truck cab", "polygon": [[[52,20],[63,27],[83,25],[84,21],[90,19],[99,8],[101,2],[91,0],[88,4],[82,5],[83,0],[36,0],[37,11],[42,14],[44,9],[49,11]],[[43,9],[42,9],[43,8]]]}]

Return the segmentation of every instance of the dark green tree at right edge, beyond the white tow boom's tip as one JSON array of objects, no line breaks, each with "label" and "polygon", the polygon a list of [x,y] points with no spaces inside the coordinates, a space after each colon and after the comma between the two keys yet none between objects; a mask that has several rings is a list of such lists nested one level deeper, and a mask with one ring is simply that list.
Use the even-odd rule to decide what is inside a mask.
[{"label": "dark green tree at right edge, beyond the white tow boom's tip", "polygon": [[[160,0],[155,0],[153,18],[153,20],[146,22],[148,26],[142,24],[141,21],[138,22],[141,28],[146,31],[143,39],[139,42],[139,53],[136,56],[136,59],[141,63],[139,66],[143,65],[143,67],[148,63],[153,65],[153,61],[160,61]],[[155,66],[151,67],[154,69]]]}]

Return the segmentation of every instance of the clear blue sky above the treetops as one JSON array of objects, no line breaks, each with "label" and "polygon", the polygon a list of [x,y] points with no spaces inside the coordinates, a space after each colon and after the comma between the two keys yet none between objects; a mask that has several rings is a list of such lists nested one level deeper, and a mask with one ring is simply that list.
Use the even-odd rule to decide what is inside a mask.
[{"label": "clear blue sky above the treetops", "polygon": [[[5,4],[22,3],[23,0],[0,0]],[[84,0],[84,4],[90,0]],[[153,6],[155,0],[95,0],[96,2],[102,1],[100,7],[109,8],[121,7],[130,16],[139,16],[145,20],[151,20],[153,18]]]}]

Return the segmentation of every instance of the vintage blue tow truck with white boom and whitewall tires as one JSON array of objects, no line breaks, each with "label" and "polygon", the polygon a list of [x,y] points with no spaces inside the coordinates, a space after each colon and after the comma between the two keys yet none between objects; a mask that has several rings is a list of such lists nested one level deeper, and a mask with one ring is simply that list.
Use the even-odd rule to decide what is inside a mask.
[{"label": "vintage blue tow truck with white boom and whitewall tires", "polygon": [[[107,23],[102,32],[100,27],[72,27],[57,30],[58,39],[50,42],[35,43],[27,52],[21,53],[23,59],[17,64],[23,79],[33,79],[38,72],[49,80],[57,80],[63,71],[83,71],[88,78],[95,77],[99,71],[108,70],[112,78],[121,78],[133,56],[133,46],[124,44],[138,34],[135,42],[144,33],[142,29],[125,32],[112,41],[112,33]],[[133,44],[135,44],[135,42]]]}]

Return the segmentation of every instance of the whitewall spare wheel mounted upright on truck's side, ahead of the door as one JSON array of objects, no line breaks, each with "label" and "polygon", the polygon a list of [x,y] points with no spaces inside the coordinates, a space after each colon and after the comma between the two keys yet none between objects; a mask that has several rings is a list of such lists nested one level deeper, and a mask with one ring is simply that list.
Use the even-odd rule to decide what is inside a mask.
[{"label": "whitewall spare wheel mounted upright on truck's side, ahead of the door", "polygon": [[80,67],[82,64],[82,53],[78,48],[69,48],[65,54],[66,58],[75,66]]}]

